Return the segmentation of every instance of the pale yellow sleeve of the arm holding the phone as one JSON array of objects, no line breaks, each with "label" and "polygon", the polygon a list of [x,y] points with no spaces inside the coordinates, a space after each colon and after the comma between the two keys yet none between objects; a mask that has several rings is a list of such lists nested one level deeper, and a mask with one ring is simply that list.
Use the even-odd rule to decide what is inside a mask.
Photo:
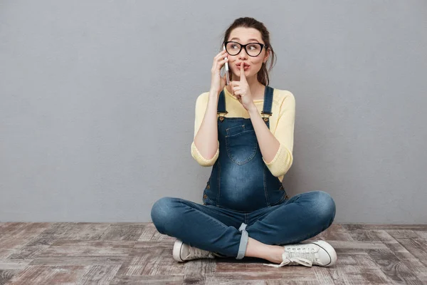
[{"label": "pale yellow sleeve of the arm holding the phone", "polygon": [[199,150],[194,144],[194,138],[196,138],[197,132],[199,132],[201,122],[203,121],[204,114],[206,112],[206,107],[208,105],[208,99],[209,99],[208,96],[209,96],[209,93],[203,93],[199,95],[199,97],[196,100],[196,110],[195,110],[195,119],[194,119],[194,137],[193,137],[193,142],[191,143],[191,156],[201,166],[214,165],[219,155],[219,141],[218,141],[218,148],[216,149],[216,154],[210,160],[206,160],[206,158],[204,158],[200,154]]}]

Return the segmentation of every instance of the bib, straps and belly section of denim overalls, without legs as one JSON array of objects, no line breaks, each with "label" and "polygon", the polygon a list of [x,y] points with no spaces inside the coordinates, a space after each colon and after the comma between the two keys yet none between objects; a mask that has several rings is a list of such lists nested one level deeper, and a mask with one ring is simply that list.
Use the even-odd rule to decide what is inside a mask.
[{"label": "bib, straps and belly section of denim overalls, without legs", "polygon": [[[218,98],[219,156],[204,190],[204,204],[252,212],[288,199],[282,182],[263,162],[251,118],[225,118],[225,94]],[[273,88],[265,86],[263,115],[272,115]],[[264,117],[270,128],[270,120]]]}]

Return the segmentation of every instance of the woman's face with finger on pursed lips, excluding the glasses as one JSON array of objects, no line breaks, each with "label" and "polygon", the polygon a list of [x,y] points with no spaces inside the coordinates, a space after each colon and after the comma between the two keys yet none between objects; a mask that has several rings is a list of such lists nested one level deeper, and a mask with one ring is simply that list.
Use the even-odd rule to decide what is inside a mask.
[{"label": "woman's face with finger on pursed lips, excluding the glasses", "polygon": [[[263,40],[261,39],[261,33],[256,28],[234,28],[233,31],[231,31],[227,41],[235,41],[243,45],[247,43],[264,44]],[[234,48],[236,48],[236,46],[234,46]],[[248,48],[249,51],[249,48],[251,47],[247,46],[246,48]],[[255,49],[255,46],[253,46],[252,49]],[[241,64],[244,64],[246,78],[252,78],[253,76],[256,78],[258,71],[260,71],[261,66],[263,63],[265,63],[265,61],[267,61],[267,59],[268,52],[265,50],[265,46],[263,47],[261,53],[255,57],[249,56],[243,47],[241,48],[240,53],[238,53],[236,56],[231,56],[228,54],[228,66],[233,73],[232,80],[240,78]]]}]

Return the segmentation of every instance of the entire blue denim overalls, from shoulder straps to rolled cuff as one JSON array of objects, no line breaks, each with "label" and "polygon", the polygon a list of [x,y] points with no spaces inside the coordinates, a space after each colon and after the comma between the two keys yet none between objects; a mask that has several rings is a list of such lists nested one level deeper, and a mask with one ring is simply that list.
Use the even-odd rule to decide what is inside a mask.
[{"label": "entire blue denim overalls, from shoulder straps to rolled cuff", "polygon": [[[225,99],[222,91],[218,98],[219,156],[204,189],[203,205],[162,197],[151,212],[156,229],[219,256],[243,259],[248,237],[264,244],[291,244],[330,227],[335,216],[332,197],[311,191],[289,199],[278,177],[263,162],[251,119],[222,115],[227,113]],[[272,103],[273,88],[265,86],[261,114],[268,128]]]}]

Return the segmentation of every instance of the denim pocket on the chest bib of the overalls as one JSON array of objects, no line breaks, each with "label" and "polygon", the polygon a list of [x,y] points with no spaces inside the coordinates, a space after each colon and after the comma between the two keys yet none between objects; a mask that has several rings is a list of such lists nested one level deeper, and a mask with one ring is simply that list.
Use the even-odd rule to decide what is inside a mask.
[{"label": "denim pocket on the chest bib of the overalls", "polygon": [[255,157],[257,149],[258,141],[255,130],[226,135],[227,155],[236,165],[244,165],[251,161]]}]

